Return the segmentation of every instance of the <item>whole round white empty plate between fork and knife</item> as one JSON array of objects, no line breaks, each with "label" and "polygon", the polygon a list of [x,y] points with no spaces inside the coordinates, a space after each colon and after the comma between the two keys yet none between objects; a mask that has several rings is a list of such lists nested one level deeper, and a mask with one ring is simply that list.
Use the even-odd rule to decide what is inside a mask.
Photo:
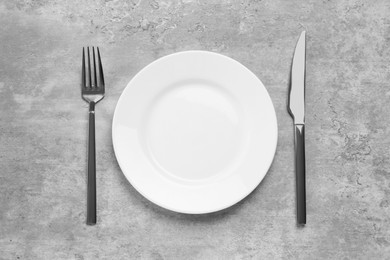
[{"label": "whole round white empty plate between fork and knife", "polygon": [[166,209],[222,210],[261,182],[277,122],[261,81],[226,56],[186,51],[142,69],[115,109],[115,155],[129,182]]}]

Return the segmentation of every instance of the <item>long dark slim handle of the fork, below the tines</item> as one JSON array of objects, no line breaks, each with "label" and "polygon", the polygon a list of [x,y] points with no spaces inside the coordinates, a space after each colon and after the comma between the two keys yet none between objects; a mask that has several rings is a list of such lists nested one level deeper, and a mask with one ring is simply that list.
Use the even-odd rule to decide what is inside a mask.
[{"label": "long dark slim handle of the fork, below the tines", "polygon": [[96,224],[95,102],[89,103],[87,224]]}]

